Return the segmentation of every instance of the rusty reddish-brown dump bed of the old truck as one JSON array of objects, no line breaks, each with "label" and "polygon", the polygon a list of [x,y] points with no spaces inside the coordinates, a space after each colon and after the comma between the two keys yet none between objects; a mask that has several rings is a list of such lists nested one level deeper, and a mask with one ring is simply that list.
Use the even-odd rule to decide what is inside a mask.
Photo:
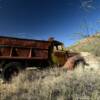
[{"label": "rusty reddish-brown dump bed of the old truck", "polygon": [[50,41],[0,36],[0,59],[48,59]]}]

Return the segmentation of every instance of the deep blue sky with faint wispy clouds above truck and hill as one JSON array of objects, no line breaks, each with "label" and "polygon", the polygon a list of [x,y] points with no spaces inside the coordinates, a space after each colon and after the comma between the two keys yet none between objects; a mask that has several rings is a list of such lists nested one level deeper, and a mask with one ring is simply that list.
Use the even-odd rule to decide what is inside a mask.
[{"label": "deep blue sky with faint wispy clouds above truck and hill", "polygon": [[[88,29],[88,30],[87,30]],[[0,0],[0,35],[55,37],[65,46],[100,30],[100,0]]]}]

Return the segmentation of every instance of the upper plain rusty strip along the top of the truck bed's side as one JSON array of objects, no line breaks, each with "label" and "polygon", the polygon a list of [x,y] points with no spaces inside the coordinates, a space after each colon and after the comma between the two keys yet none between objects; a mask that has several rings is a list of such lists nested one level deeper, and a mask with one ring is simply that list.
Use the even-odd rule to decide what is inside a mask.
[{"label": "upper plain rusty strip along the top of the truck bed's side", "polygon": [[20,40],[20,39],[10,39],[0,37],[0,45],[10,45],[10,46],[23,46],[23,47],[35,47],[40,49],[48,49],[48,41],[29,41],[29,40]]}]

